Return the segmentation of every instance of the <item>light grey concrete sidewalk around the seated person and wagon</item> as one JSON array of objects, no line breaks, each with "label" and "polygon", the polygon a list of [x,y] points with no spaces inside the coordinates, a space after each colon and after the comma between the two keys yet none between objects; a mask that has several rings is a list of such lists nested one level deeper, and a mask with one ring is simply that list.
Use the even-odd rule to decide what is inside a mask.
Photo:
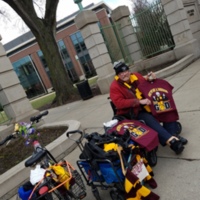
[{"label": "light grey concrete sidewalk around the seated person and wagon", "polygon": [[[175,155],[169,147],[159,147],[158,164],[153,168],[158,187],[153,190],[162,200],[198,199],[200,195],[200,60],[166,78],[174,86],[174,99],[180,115],[183,130],[181,135],[188,144],[181,155]],[[103,132],[103,122],[111,120],[113,113],[107,97],[95,96],[86,101],[77,101],[49,110],[46,123],[63,120],[77,120],[83,129],[91,133]],[[66,159],[75,164],[80,154],[74,150]],[[110,199],[103,192],[103,199]],[[94,199],[89,195],[85,199]]]}]

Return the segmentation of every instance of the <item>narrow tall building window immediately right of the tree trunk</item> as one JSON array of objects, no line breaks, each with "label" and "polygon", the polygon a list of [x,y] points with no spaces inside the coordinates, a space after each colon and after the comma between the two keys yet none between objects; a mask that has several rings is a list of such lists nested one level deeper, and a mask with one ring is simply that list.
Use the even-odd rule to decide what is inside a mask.
[{"label": "narrow tall building window immediately right of the tree trunk", "polygon": [[72,60],[67,52],[67,48],[62,40],[58,41],[58,48],[59,48],[63,63],[65,65],[65,68],[67,70],[67,73],[69,75],[69,78],[72,80],[72,82],[77,82],[79,78],[74,69]]}]

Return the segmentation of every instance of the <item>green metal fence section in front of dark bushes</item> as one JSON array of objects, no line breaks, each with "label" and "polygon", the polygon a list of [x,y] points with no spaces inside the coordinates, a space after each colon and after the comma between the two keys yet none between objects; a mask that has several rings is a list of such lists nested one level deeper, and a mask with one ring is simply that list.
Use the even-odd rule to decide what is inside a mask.
[{"label": "green metal fence section in front of dark bushes", "polygon": [[174,48],[173,37],[160,0],[136,5],[130,18],[144,58]]}]

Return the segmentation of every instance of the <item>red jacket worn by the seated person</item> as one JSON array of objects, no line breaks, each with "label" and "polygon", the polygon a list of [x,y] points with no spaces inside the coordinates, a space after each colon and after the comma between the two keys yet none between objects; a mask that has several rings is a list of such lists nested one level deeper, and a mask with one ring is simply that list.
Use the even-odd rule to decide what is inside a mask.
[{"label": "red jacket worn by the seated person", "polygon": [[[139,73],[134,73],[138,77],[137,82],[145,80]],[[132,84],[133,88],[128,89],[123,82],[113,80],[110,86],[110,98],[117,108],[117,115],[124,115],[131,111],[137,116],[140,111],[139,100],[135,96],[136,81]]]}]

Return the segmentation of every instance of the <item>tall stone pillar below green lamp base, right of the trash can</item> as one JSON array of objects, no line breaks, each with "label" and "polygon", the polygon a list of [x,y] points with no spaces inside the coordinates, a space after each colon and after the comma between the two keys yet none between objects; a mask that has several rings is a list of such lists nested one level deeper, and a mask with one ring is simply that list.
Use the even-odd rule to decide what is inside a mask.
[{"label": "tall stone pillar below green lamp base, right of the trash can", "polygon": [[109,92],[114,77],[113,64],[97,24],[98,18],[91,10],[81,11],[75,18],[75,24],[81,31],[92,63],[96,69],[97,84],[102,94]]}]

